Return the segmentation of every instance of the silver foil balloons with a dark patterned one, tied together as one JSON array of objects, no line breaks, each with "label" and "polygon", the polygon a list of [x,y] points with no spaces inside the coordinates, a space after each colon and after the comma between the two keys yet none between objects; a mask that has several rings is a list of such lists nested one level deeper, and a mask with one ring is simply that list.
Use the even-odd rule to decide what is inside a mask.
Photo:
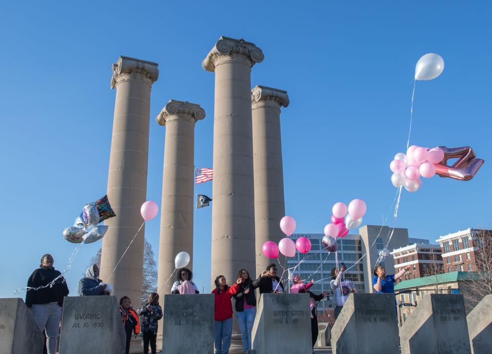
[{"label": "silver foil balloons with a dark patterned one, tied together", "polygon": [[105,195],[100,200],[84,206],[73,226],[63,230],[63,238],[71,243],[92,243],[101,240],[108,231],[108,226],[97,224],[115,216],[108,196]]}]

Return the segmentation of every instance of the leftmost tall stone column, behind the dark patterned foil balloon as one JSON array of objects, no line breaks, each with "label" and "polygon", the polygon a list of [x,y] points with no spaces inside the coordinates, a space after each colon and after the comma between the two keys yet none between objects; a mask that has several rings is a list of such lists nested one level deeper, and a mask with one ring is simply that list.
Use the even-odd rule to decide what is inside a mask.
[{"label": "leftmost tall stone column, behind the dark patterned foil balloon", "polygon": [[116,217],[108,219],[103,239],[101,276],[113,285],[113,295],[140,303],[144,228],[137,235],[110,278],[137,230],[143,223],[140,207],[147,194],[150,89],[158,79],[158,64],[121,56],[113,64],[111,88],[116,88],[113,135],[109,158],[108,198]]}]

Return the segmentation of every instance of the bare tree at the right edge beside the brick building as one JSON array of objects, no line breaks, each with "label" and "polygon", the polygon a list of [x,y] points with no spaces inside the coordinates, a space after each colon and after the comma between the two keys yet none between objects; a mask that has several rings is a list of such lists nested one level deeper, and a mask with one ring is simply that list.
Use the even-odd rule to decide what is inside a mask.
[{"label": "bare tree at the right edge beside the brick building", "polygon": [[492,294],[492,231],[477,230],[472,242],[477,248],[474,252],[477,271],[470,273],[470,279],[463,282],[465,305],[470,310]]}]

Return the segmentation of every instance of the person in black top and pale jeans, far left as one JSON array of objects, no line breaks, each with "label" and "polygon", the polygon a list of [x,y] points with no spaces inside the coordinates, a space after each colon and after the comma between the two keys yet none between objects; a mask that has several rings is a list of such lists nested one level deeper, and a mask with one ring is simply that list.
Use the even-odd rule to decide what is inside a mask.
[{"label": "person in black top and pale jeans, far left", "polygon": [[[27,281],[26,293],[26,305],[31,309],[34,321],[41,331],[46,332],[48,354],[56,352],[63,298],[69,292],[62,273],[53,268],[53,263],[51,254],[43,255],[40,267],[32,272]],[[46,287],[36,289],[40,286]]]}]

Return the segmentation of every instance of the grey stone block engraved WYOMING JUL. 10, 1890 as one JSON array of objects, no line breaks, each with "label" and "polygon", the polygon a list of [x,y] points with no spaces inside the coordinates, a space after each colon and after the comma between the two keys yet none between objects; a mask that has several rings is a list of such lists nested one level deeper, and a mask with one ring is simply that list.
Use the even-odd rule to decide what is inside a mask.
[{"label": "grey stone block engraved WYOMING JUL. 10, 1890", "polygon": [[65,297],[60,354],[124,354],[119,308],[114,296]]}]

